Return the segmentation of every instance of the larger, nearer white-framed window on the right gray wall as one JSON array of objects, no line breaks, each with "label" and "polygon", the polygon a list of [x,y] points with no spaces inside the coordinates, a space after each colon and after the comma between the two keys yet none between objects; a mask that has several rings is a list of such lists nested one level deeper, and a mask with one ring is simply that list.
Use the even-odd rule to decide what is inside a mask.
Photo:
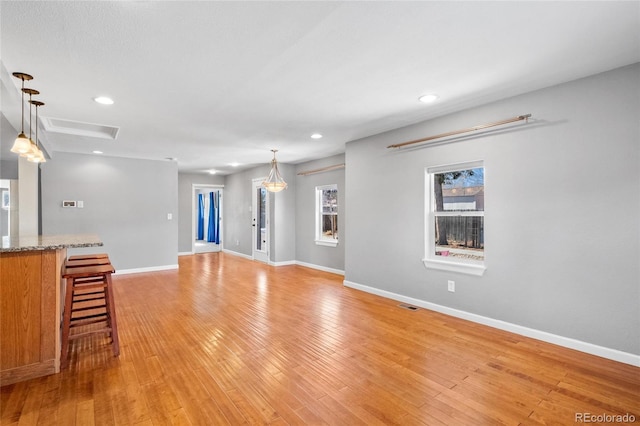
[{"label": "larger, nearer white-framed window on the right gray wall", "polygon": [[426,186],[425,266],[482,275],[485,270],[483,162],[429,167]]}]

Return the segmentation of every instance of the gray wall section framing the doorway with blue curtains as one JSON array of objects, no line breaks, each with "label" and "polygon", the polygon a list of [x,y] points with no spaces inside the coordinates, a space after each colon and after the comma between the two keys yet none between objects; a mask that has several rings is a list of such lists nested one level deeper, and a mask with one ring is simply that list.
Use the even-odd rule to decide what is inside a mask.
[{"label": "gray wall section framing the doorway with blue curtains", "polygon": [[[190,253],[192,250],[192,192],[197,185],[224,185],[225,177],[205,173],[178,173],[178,251]],[[224,230],[224,220],[222,221]],[[225,242],[226,244],[226,242]]]}]

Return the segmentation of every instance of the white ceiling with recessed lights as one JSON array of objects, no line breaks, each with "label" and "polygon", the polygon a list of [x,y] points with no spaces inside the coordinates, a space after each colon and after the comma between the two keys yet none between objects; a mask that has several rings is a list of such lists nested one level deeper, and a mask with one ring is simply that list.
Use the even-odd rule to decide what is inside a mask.
[{"label": "white ceiling with recessed lights", "polygon": [[[56,152],[165,159],[223,174],[344,152],[345,143],[640,61],[640,2],[2,1],[2,112],[20,81]],[[433,104],[418,97],[434,92]],[[112,106],[95,103],[107,95]],[[594,100],[597,102],[597,100]],[[497,117],[497,119],[504,117]],[[4,121],[3,121],[4,122]],[[478,124],[478,123],[470,123]],[[5,125],[6,127],[6,125]],[[319,132],[322,139],[310,135]],[[15,138],[5,137],[2,155]],[[13,155],[13,154],[11,154]]]}]

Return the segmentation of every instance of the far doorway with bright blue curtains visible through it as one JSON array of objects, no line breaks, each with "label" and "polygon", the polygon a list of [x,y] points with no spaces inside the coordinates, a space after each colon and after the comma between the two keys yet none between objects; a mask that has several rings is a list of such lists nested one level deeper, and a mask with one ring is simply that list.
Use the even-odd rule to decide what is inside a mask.
[{"label": "far doorway with bright blue curtains visible through it", "polygon": [[222,186],[192,185],[191,251],[211,253],[223,249]]}]

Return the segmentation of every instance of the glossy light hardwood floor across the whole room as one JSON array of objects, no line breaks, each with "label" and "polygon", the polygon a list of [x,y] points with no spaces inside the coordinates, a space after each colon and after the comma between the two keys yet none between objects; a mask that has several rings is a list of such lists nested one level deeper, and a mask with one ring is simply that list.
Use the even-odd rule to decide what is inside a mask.
[{"label": "glossy light hardwood floor across the whole room", "polygon": [[1,388],[2,425],[640,422],[640,369],[224,253],[114,277],[119,358]]}]

